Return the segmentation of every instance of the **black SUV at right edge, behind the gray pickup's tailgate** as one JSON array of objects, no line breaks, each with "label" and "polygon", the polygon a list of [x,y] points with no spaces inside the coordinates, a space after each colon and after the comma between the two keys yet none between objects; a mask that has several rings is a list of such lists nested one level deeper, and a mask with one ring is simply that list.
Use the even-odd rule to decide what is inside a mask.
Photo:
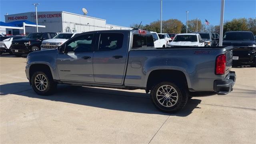
[{"label": "black SUV at right edge, behind the gray pickup's tailgate", "polygon": [[256,42],[252,32],[226,32],[223,46],[233,46],[233,64],[250,64],[256,67]]}]

